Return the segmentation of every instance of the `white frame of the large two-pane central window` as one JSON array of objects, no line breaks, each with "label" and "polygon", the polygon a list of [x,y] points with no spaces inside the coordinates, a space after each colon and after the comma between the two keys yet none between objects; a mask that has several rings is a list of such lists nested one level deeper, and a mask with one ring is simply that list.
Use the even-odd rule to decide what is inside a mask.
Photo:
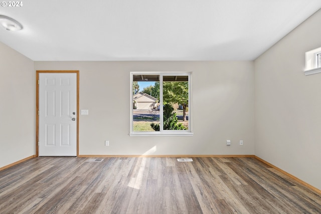
[{"label": "white frame of the large two-pane central window", "polygon": [[[141,132],[133,131],[133,75],[159,75],[159,131]],[[163,128],[163,76],[188,76],[189,79],[189,129],[164,130]],[[193,101],[192,101],[192,72],[130,72],[130,132],[129,136],[193,136]]]}]

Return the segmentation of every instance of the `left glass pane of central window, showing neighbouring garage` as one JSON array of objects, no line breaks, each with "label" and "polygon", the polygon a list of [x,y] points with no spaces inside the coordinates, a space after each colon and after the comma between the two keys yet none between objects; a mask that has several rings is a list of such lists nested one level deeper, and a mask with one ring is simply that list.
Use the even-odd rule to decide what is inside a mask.
[{"label": "left glass pane of central window, showing neighbouring garage", "polygon": [[159,131],[159,75],[133,75],[133,131]]}]

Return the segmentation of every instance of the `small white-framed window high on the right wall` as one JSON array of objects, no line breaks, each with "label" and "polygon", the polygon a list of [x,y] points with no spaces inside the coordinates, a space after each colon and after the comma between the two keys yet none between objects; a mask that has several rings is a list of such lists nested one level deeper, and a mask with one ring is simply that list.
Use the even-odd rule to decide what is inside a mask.
[{"label": "small white-framed window high on the right wall", "polygon": [[318,67],[318,54],[321,54],[321,47],[305,52],[305,75],[321,73],[321,67]]}]

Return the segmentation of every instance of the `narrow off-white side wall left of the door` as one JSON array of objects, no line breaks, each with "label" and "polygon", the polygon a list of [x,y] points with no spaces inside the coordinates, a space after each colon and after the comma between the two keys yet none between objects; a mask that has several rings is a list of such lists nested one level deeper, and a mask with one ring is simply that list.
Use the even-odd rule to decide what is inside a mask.
[{"label": "narrow off-white side wall left of the door", "polygon": [[35,154],[34,62],[0,43],[0,167]]}]

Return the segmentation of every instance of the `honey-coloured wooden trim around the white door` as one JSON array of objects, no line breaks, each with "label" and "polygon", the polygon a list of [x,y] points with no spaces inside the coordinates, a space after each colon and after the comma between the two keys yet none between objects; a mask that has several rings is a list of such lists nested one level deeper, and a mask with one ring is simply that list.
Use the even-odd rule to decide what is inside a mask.
[{"label": "honey-coloured wooden trim around the white door", "polygon": [[39,157],[39,74],[40,73],[76,73],[77,74],[77,157],[79,157],[79,71],[36,71],[36,157]]}]

